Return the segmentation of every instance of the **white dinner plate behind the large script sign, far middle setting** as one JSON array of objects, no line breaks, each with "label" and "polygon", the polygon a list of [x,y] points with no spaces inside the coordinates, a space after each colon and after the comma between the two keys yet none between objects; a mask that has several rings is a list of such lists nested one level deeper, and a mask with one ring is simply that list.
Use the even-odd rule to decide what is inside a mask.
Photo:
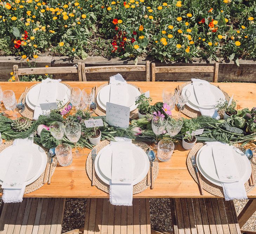
[{"label": "white dinner plate behind the large script sign, far middle setting", "polygon": [[[102,93],[101,93],[102,92]],[[123,106],[130,107],[130,111],[134,111],[137,108],[137,105],[135,105],[135,99],[137,96],[140,95],[139,90],[130,85],[127,84],[127,93],[129,95],[127,103],[124,103]],[[106,111],[106,103],[109,102],[110,97],[110,85],[107,85],[103,87],[97,94],[96,100],[99,104],[99,106]]]}]

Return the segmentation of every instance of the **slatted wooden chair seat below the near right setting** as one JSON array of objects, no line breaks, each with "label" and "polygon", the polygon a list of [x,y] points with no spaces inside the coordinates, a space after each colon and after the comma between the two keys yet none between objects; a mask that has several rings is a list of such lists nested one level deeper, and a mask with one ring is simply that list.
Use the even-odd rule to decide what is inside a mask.
[{"label": "slatted wooden chair seat below the near right setting", "polygon": [[171,199],[173,234],[241,234],[233,201],[222,198]]}]

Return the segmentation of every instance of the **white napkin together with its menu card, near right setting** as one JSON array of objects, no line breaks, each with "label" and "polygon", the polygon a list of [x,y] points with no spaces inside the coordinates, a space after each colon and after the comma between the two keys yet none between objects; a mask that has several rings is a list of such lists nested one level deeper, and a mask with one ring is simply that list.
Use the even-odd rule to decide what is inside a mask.
[{"label": "white napkin together with its menu card, near right setting", "polygon": [[[209,146],[215,147],[215,149],[218,150],[218,148],[221,148],[223,145],[228,145],[222,142],[207,142],[206,143]],[[214,150],[212,151],[214,152]],[[231,152],[231,151],[230,151]],[[229,165],[234,165],[234,159],[232,160],[232,155],[229,155],[230,152],[225,151],[225,157],[227,157],[227,161],[229,161]],[[230,179],[230,181],[234,181],[234,182],[221,182],[221,185],[223,187],[223,193],[224,193],[224,197],[226,201],[229,200],[233,200],[233,199],[248,199],[246,191],[245,191],[245,187],[244,187],[244,183],[242,181],[237,181],[237,179],[239,179],[239,175],[237,174],[237,169],[234,166],[231,166],[230,168],[226,168],[227,171],[219,171],[219,169],[221,167],[223,167],[223,165],[221,165],[221,162],[216,162],[217,158],[219,158],[219,155],[214,155],[213,154],[213,158],[215,160],[215,166],[216,166],[216,171],[218,176],[222,177],[225,175],[225,173],[230,173],[230,175],[232,175],[232,178]],[[225,163],[223,161],[223,163]],[[219,168],[218,168],[219,167]],[[231,169],[232,168],[232,169]],[[236,178],[237,177],[237,178]],[[223,180],[223,179],[222,179]],[[227,179],[228,181],[228,179]]]}]

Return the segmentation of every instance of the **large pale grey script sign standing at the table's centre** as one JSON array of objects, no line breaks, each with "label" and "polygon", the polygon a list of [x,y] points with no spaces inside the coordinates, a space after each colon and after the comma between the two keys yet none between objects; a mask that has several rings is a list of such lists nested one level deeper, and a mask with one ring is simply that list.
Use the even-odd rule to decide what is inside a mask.
[{"label": "large pale grey script sign standing at the table's centre", "polygon": [[129,127],[130,107],[106,103],[106,121],[113,127],[126,129]]}]

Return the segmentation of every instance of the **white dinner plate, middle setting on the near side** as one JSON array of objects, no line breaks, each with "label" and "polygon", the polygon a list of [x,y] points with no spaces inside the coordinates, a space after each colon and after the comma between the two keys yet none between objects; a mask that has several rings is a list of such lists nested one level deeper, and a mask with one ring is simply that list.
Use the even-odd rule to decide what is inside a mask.
[{"label": "white dinner plate, middle setting on the near side", "polygon": [[[133,153],[133,185],[136,185],[142,181],[147,172],[149,171],[149,158],[147,157],[146,152],[134,144],[130,145],[125,142],[120,142],[119,147],[129,147],[132,149]],[[102,157],[102,158],[101,158]],[[96,174],[99,178],[109,185],[111,180],[111,167],[112,167],[112,150],[111,146],[107,145],[97,154],[94,167]]]}]

